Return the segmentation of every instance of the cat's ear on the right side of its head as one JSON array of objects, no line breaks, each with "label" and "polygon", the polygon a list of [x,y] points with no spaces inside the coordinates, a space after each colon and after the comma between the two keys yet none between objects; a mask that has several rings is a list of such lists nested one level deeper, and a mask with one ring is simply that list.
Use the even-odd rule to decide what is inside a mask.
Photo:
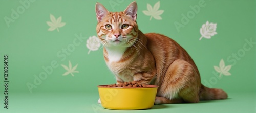
[{"label": "cat's ear on the right side of its head", "polygon": [[123,13],[130,16],[134,21],[136,21],[137,10],[138,10],[137,3],[134,1],[123,11]]}]

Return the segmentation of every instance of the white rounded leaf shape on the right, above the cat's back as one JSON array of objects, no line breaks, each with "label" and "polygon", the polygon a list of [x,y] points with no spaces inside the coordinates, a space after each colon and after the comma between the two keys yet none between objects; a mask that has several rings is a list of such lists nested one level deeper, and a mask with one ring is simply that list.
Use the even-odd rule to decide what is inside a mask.
[{"label": "white rounded leaf shape on the right, above the cat's back", "polygon": [[201,40],[203,37],[210,39],[211,36],[214,36],[217,34],[216,32],[217,24],[215,23],[209,23],[209,21],[206,21],[205,24],[202,25],[202,28],[200,28],[200,34],[201,37],[199,40]]}]

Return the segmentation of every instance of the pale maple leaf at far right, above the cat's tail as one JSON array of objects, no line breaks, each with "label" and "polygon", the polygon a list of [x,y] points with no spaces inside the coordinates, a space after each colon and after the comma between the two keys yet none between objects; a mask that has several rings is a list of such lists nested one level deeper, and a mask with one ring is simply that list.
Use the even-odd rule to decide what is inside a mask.
[{"label": "pale maple leaf at far right, above the cat's tail", "polygon": [[229,73],[228,71],[231,69],[231,65],[227,65],[225,66],[224,60],[221,59],[219,67],[218,66],[214,66],[214,69],[220,73],[220,77],[221,75],[226,75],[229,76],[231,75],[231,73]]}]

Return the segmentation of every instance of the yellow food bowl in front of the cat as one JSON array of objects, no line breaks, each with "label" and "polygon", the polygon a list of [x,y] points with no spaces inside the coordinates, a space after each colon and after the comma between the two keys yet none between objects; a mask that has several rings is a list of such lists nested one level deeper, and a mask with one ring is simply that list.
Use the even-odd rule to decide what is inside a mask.
[{"label": "yellow food bowl in front of the cat", "polygon": [[137,110],[149,109],[154,106],[156,85],[147,87],[106,87],[99,85],[101,105],[106,109]]}]

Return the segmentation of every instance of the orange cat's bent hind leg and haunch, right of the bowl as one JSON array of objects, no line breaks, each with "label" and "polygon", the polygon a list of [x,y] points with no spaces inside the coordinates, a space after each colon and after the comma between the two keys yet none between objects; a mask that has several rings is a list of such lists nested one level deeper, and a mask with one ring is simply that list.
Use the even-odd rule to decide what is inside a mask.
[{"label": "orange cat's bent hind leg and haunch, right of the bowl", "polygon": [[[155,104],[168,104],[175,102],[199,102],[200,76],[195,67],[187,61],[177,59],[168,67],[163,82],[159,87]],[[170,101],[168,101],[169,99]],[[177,101],[177,99],[179,101]]]}]

